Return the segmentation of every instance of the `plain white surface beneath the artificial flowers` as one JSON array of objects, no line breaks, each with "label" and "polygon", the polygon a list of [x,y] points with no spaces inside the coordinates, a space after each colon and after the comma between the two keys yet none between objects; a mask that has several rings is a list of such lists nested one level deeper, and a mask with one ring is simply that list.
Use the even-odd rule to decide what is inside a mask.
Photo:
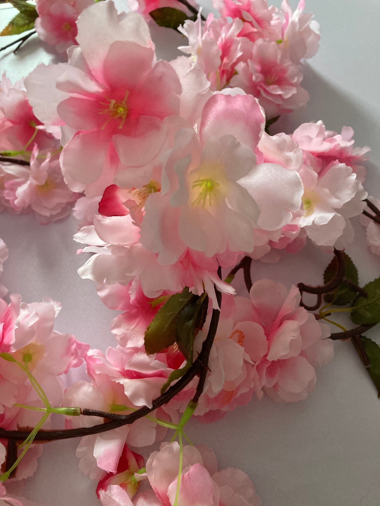
[{"label": "plain white surface beneath the artificial flowers", "polygon": [[[357,145],[372,148],[366,188],[379,198],[379,0],[308,0],[307,10],[322,27],[320,51],[305,68],[304,87],[311,100],[302,111],[281,118],[276,131],[291,132],[300,122],[317,119],[331,130],[352,126]],[[157,27],[154,35],[159,56],[175,57],[182,37]],[[33,52],[37,47],[40,43],[30,40],[17,57],[3,57],[0,71],[10,70],[16,78],[51,59],[42,49]],[[73,219],[43,227],[32,216],[0,215],[0,237],[10,250],[2,282],[26,302],[45,296],[59,300],[63,309],[57,329],[105,349],[115,345],[108,330],[114,313],[97,298],[95,284],[76,273],[84,261],[75,256],[77,245],[71,240],[76,226]],[[355,243],[348,253],[365,283],[379,275],[380,257],[370,254],[364,229],[356,221],[354,226]],[[309,245],[276,265],[254,263],[253,280],[268,277],[288,287],[298,281],[319,283],[328,261],[329,256]],[[236,287],[243,293],[240,275]],[[367,335],[378,340],[377,329]],[[317,377],[316,390],[306,401],[252,401],[212,425],[192,420],[188,436],[211,446],[220,468],[246,471],[263,506],[378,506],[380,401],[353,346],[337,343],[333,362],[318,369]],[[26,497],[46,506],[100,504],[96,483],[78,469],[77,443],[45,445],[39,469],[26,482]]]}]

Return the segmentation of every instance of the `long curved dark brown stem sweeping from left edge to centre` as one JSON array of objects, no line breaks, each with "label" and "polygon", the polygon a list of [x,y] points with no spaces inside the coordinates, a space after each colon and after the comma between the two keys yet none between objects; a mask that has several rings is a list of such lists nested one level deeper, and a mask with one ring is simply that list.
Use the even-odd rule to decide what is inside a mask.
[{"label": "long curved dark brown stem sweeping from left edge to centre", "polygon": [[[220,268],[218,269],[218,273],[220,275]],[[220,307],[221,303],[221,293],[215,286],[215,293],[217,297],[217,301]],[[112,429],[117,429],[118,427],[122,427],[124,425],[133,424],[134,421],[146,416],[147,414],[155,411],[157,408],[167,404],[174,396],[176,396],[181,390],[183,390],[186,385],[188,385],[194,377],[199,374],[200,379],[198,382],[198,387],[196,391],[196,395],[194,398],[199,396],[202,393],[204,381],[207,373],[207,364],[208,357],[210,354],[210,350],[212,344],[214,342],[218,321],[219,321],[219,313],[218,309],[214,309],[211,316],[210,327],[207,333],[207,337],[203,343],[201,353],[198,355],[197,359],[194,361],[194,364],[188,371],[178,380],[177,383],[172,385],[164,394],[160,395],[157,399],[152,402],[152,407],[148,408],[147,406],[142,406],[137,411],[133,413],[129,413],[126,415],[116,414],[116,413],[108,413],[105,411],[97,411],[94,409],[81,409],[81,413],[86,416],[100,416],[102,418],[108,418],[112,421],[107,421],[103,424],[95,425],[93,427],[81,427],[79,429],[63,429],[63,430],[40,430],[37,432],[34,441],[55,441],[58,439],[70,439],[70,438],[78,438],[82,436],[89,436],[92,434],[99,434],[101,432],[107,432]],[[206,372],[204,372],[206,371]],[[199,399],[199,397],[198,397]],[[196,401],[197,402],[197,401]],[[31,430],[27,431],[7,431],[4,429],[0,429],[0,439],[8,439],[8,440],[21,440],[23,441],[28,437]]]}]

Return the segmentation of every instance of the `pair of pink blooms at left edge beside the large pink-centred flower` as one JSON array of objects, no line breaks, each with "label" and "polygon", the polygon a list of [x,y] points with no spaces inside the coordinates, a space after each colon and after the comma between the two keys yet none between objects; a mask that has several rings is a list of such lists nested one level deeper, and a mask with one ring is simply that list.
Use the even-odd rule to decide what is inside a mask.
[{"label": "pair of pink blooms at left edge beside the large pink-centred flower", "polygon": [[26,164],[0,161],[0,210],[34,212],[43,224],[70,214],[78,194],[63,180],[57,135],[59,129],[35,117],[22,81],[12,86],[4,75],[0,81],[0,152]]}]

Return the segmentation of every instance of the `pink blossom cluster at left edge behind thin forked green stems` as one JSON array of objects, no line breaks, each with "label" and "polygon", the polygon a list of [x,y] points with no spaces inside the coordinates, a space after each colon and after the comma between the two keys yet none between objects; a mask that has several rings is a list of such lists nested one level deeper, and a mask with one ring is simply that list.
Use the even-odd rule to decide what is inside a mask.
[{"label": "pink blossom cluster at left edge behind thin forked green stems", "polygon": [[[58,407],[65,388],[63,375],[83,362],[84,352],[89,347],[75,340],[72,334],[61,334],[53,329],[59,311],[60,304],[51,299],[31,304],[21,302],[18,294],[10,296],[9,304],[0,299],[0,353],[5,354],[0,358],[0,427],[3,429],[34,427],[40,420],[41,413],[18,404],[45,407],[25,368],[41,386],[51,405]],[[51,415],[43,428],[51,428]],[[19,449],[19,454],[21,451]],[[21,460],[15,479],[31,476],[41,454],[41,445],[32,446]]]}]

